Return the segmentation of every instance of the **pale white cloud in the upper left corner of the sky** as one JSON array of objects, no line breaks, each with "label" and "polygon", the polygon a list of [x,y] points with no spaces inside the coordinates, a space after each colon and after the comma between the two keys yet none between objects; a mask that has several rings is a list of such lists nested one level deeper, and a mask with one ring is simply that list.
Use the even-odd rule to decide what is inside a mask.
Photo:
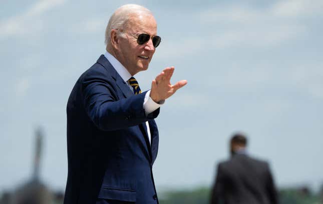
[{"label": "pale white cloud in the upper left corner of the sky", "polygon": [[25,12],[0,22],[0,39],[9,36],[25,36],[42,29],[40,16],[49,9],[61,5],[65,0],[40,0]]}]

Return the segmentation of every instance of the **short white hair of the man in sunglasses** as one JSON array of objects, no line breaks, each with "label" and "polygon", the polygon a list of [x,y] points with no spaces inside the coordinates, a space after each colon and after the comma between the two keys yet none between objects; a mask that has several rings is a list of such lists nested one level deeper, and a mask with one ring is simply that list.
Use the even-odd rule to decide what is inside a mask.
[{"label": "short white hair of the man in sunglasses", "polygon": [[[105,32],[105,44],[109,45],[111,43],[110,33],[112,29],[125,29],[131,16],[141,14],[152,15],[152,12],[148,8],[137,4],[125,4],[119,7],[109,19]],[[122,33],[117,32],[117,34],[121,35]]]}]

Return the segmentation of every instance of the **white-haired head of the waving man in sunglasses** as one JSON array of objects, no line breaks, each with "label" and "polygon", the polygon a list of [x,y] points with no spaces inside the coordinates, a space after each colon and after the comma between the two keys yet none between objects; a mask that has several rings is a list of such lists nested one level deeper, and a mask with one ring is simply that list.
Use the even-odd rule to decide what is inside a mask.
[{"label": "white-haired head of the waving man in sunglasses", "polygon": [[[141,33],[150,35],[150,39],[138,44]],[[119,7],[110,17],[105,33],[107,51],[128,69],[131,75],[148,69],[155,52],[151,37],[157,35],[157,23],[152,12],[137,4]]]}]

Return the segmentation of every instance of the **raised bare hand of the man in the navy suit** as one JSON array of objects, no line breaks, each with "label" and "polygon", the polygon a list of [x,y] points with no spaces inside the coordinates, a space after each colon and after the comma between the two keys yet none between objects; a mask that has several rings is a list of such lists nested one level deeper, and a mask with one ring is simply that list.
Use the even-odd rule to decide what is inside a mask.
[{"label": "raised bare hand of the man in the navy suit", "polygon": [[156,103],[172,96],[179,88],[187,84],[186,80],[180,80],[172,85],[170,79],[174,73],[174,67],[166,67],[151,83],[150,97]]}]

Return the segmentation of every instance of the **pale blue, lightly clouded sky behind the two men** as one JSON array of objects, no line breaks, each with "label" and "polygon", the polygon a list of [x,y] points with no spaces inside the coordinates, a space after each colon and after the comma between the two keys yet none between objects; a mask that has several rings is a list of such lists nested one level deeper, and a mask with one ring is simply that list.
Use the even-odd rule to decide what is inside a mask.
[{"label": "pale blue, lightly clouded sky behind the two men", "polygon": [[235,131],[270,162],[279,187],[323,184],[323,1],[4,0],[0,8],[0,191],[29,178],[35,128],[46,134],[42,179],[63,190],[66,103],[105,52],[104,30],[125,3],[148,7],[162,42],[142,90],[163,68],[188,84],[156,122],[158,190],[210,185]]}]

